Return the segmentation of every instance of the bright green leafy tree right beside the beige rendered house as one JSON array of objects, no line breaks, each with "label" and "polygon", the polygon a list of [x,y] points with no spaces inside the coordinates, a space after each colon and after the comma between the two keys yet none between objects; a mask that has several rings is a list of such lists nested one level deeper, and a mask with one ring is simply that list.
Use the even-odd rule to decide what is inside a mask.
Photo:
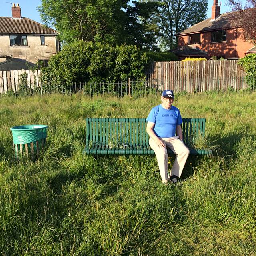
[{"label": "bright green leafy tree right beside the beige rendered house", "polygon": [[114,40],[118,35],[127,0],[42,0],[38,10],[42,21],[60,32],[64,42],[95,36]]}]

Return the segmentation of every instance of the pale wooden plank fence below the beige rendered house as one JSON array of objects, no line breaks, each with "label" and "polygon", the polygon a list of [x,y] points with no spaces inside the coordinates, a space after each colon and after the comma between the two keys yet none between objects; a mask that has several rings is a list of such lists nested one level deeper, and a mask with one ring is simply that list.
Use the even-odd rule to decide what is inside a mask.
[{"label": "pale wooden plank fence below the beige rendered house", "polygon": [[0,94],[6,94],[8,91],[16,92],[19,84],[22,83],[22,74],[27,74],[27,85],[30,88],[40,86],[40,70],[0,70]]}]

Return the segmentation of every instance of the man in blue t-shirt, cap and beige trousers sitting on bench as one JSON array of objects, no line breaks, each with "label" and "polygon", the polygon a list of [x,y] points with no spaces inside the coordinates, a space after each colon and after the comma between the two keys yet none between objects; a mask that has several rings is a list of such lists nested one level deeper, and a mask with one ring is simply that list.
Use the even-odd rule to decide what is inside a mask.
[{"label": "man in blue t-shirt, cap and beige trousers sitting on bench", "polygon": [[[164,90],[161,101],[162,104],[152,108],[146,121],[148,122],[147,133],[150,136],[149,145],[156,154],[162,182],[168,185],[169,181],[178,182],[188,158],[189,149],[183,143],[180,110],[172,106],[173,91]],[[168,175],[167,148],[176,154],[170,176]]]}]

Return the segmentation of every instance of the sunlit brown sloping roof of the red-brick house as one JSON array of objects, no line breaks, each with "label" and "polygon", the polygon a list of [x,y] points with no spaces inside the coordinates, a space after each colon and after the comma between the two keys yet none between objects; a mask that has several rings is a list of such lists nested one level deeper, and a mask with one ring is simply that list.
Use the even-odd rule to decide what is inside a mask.
[{"label": "sunlit brown sloping roof of the red-brick house", "polygon": [[191,26],[190,28],[187,28],[184,31],[177,33],[176,36],[192,34],[196,32],[218,30],[222,28],[232,28],[235,26],[237,25],[234,22],[230,21],[229,13],[224,13],[224,14],[221,14],[215,20],[211,20],[211,18],[207,20],[203,20]]}]

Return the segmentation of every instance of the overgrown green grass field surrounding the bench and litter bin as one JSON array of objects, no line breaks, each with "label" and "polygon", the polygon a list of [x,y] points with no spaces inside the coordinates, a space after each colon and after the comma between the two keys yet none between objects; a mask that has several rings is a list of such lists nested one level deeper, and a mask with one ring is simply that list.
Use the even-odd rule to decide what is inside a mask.
[{"label": "overgrown green grass field surrounding the bench and litter bin", "polygon": [[[215,152],[189,157],[178,186],[154,156],[82,154],[86,117],[144,118],[159,98],[1,97],[0,255],[256,255],[255,93],[176,96]],[[14,160],[22,124],[49,126],[36,162]]]}]

